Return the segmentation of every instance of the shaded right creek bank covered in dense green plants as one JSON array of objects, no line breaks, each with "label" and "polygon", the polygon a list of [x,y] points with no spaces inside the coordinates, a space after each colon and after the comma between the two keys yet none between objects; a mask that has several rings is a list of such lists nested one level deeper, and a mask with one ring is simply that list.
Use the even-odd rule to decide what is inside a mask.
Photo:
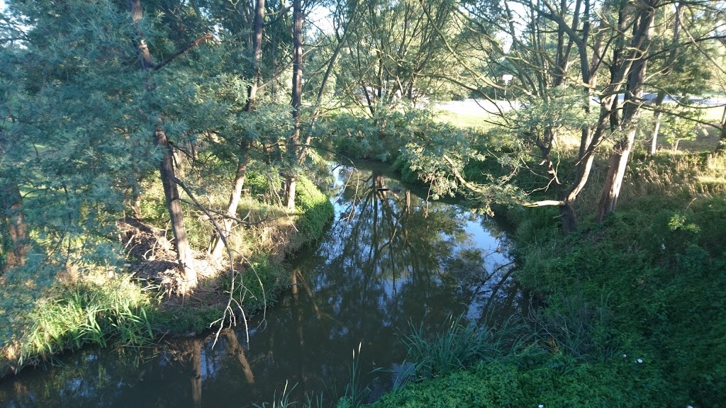
[{"label": "shaded right creek bank covered in dense green plants", "polygon": [[514,276],[543,304],[529,346],[372,407],[724,406],[726,159],[635,158],[625,185],[616,213],[566,236],[556,208],[497,208],[515,227]]}]

